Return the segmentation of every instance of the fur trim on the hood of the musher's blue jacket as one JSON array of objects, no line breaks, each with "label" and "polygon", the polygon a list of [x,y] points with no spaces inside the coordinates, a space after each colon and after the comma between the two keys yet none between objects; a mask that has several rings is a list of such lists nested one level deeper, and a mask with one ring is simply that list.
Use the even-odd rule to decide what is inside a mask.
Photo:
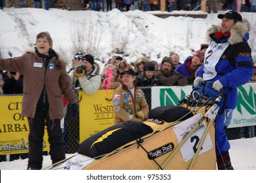
[{"label": "fur trim on the hood of the musher's blue jacket", "polygon": [[[230,30],[230,37],[229,37],[229,44],[237,44],[239,42],[243,42],[244,40],[249,39],[249,22],[247,20],[244,20],[242,22],[236,22],[236,24],[233,25],[233,27]],[[221,31],[221,25],[213,25],[208,31],[207,31],[207,40],[210,42],[211,37],[210,35],[213,33],[217,33]]]}]

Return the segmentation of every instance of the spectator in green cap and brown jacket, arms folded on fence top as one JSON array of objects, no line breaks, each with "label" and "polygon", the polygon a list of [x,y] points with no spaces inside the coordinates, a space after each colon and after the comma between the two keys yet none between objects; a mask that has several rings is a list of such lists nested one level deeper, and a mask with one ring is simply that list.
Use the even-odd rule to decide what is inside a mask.
[{"label": "spectator in green cap and brown jacket, arms folded on fence top", "polygon": [[156,78],[158,78],[159,85],[162,86],[185,86],[188,84],[187,78],[180,75],[172,69],[172,58],[164,57],[162,59],[162,68],[156,72]]}]

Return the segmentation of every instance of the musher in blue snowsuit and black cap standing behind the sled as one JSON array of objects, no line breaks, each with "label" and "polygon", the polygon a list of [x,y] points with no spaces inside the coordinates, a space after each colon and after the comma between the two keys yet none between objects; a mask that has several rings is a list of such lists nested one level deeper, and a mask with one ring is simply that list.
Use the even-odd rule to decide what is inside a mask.
[{"label": "musher in blue snowsuit and black cap standing behind the sled", "polygon": [[[200,90],[202,84],[214,89],[208,97],[224,90],[215,122],[215,148],[218,169],[233,169],[229,156],[230,144],[223,128],[225,109],[234,109],[238,103],[237,87],[246,84],[253,76],[253,61],[249,39],[249,22],[243,21],[238,12],[219,14],[221,26],[213,25],[208,30],[210,45],[204,56],[204,64],[196,74],[193,89]],[[216,96],[214,96],[216,97]],[[221,104],[219,103],[219,104]]]}]

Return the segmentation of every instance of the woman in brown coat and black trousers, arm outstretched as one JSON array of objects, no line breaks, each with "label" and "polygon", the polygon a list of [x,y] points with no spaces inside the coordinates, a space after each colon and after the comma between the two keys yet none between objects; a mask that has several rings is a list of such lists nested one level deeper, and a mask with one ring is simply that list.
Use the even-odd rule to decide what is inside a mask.
[{"label": "woman in brown coat and black trousers, arm outstretched", "polygon": [[78,113],[75,92],[65,71],[65,61],[52,49],[48,32],[37,34],[35,52],[17,58],[0,58],[0,69],[24,75],[22,115],[29,122],[29,161],[27,169],[41,169],[45,125],[52,163],[65,159],[65,143],[60,120],[64,117],[62,95]]}]

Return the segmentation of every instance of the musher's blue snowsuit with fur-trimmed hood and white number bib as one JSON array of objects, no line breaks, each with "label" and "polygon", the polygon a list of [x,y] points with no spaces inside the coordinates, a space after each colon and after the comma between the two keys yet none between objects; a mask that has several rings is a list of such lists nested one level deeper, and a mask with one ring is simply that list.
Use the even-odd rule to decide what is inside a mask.
[{"label": "musher's blue snowsuit with fur-trimmed hood and white number bib", "polygon": [[[210,46],[204,56],[204,65],[200,67],[196,76],[204,78],[205,82],[215,82],[216,80],[221,82],[227,95],[227,103],[224,108],[236,108],[238,103],[237,87],[246,84],[253,76],[251,48],[247,43],[248,31],[249,23],[247,21],[236,22],[228,36],[222,35],[221,26],[213,26],[208,31]],[[223,128],[225,112],[222,111],[219,111],[215,124],[217,155],[228,152],[230,148]]]}]

